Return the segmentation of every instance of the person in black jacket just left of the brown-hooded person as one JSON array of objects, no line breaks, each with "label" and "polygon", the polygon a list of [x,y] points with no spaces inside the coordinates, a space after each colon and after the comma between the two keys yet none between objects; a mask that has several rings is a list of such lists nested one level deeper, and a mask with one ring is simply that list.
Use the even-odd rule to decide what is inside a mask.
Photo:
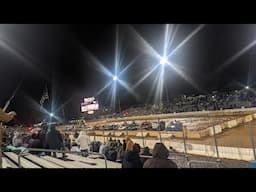
[{"label": "person in black jacket just left of the brown-hooded person", "polygon": [[126,151],[124,154],[122,168],[142,168],[143,164],[140,160],[140,146],[135,143],[132,150]]}]

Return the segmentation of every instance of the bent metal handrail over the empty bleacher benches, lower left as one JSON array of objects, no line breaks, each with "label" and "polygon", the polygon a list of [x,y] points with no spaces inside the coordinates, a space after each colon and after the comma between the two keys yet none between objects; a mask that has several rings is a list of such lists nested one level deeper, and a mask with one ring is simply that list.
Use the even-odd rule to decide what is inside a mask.
[{"label": "bent metal handrail over the empty bleacher benches, lower left", "polygon": [[[21,161],[20,161],[20,157],[21,155],[25,154],[25,152],[30,152],[30,151],[37,151],[37,152],[55,152],[55,153],[62,153],[62,154],[65,154],[65,153],[70,153],[70,154],[81,154],[82,152],[77,152],[77,151],[64,151],[64,150],[54,150],[54,149],[38,149],[38,148],[24,148],[20,151],[20,153],[18,154],[18,165],[19,165],[19,168],[22,168],[21,167]],[[104,154],[101,154],[101,153],[96,153],[96,152],[88,152],[88,154],[94,154],[94,155],[101,155],[103,156],[104,160],[105,160],[105,166],[106,168],[107,167],[107,158]]]}]

